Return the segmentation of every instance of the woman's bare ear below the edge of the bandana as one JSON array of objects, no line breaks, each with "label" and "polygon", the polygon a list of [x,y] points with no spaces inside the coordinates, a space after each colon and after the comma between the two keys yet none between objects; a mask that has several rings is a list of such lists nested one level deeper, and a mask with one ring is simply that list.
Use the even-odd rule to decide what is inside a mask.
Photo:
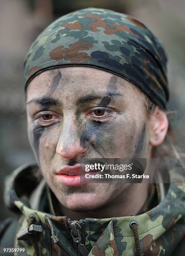
[{"label": "woman's bare ear below the edge of the bandana", "polygon": [[152,146],[159,146],[164,141],[168,129],[168,120],[164,111],[156,107],[154,113],[150,116],[150,139]]}]

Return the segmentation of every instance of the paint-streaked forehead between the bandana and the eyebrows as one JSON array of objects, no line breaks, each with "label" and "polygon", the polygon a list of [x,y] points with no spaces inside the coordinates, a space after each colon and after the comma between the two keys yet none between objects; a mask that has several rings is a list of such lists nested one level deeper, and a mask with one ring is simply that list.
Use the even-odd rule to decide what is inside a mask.
[{"label": "paint-streaked forehead between the bandana and the eyebrows", "polygon": [[131,82],[110,72],[91,67],[61,67],[34,77],[27,87],[27,100],[46,94],[78,98],[91,93],[124,93],[125,97],[135,94]]}]

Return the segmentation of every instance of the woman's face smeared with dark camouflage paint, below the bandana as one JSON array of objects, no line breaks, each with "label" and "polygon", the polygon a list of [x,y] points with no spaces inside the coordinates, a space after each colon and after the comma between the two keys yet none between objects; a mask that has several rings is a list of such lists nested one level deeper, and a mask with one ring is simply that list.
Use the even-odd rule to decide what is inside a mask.
[{"label": "woman's face smeared with dark camouflage paint, below the bandana", "polygon": [[43,176],[64,207],[94,210],[124,192],[126,184],[120,183],[69,184],[58,172],[78,166],[85,158],[146,157],[149,135],[144,113],[132,83],[95,68],[52,69],[30,82],[30,144]]}]

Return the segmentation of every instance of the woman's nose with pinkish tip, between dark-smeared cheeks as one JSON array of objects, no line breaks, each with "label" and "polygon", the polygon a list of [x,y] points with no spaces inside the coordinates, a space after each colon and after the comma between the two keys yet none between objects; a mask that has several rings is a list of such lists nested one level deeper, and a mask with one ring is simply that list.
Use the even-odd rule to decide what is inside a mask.
[{"label": "woman's nose with pinkish tip, between dark-smeared cheeks", "polygon": [[66,159],[72,159],[87,151],[87,143],[81,143],[82,129],[72,118],[63,119],[60,138],[56,146],[56,153]]}]

